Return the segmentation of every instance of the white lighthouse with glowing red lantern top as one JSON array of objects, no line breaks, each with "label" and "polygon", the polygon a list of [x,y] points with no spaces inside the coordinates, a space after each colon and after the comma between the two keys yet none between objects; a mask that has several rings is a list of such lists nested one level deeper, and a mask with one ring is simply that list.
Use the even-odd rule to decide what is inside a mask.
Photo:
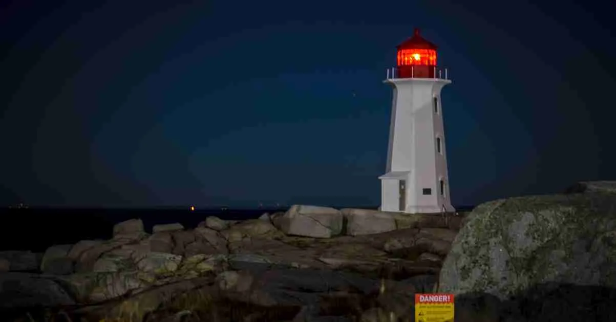
[{"label": "white lighthouse with glowing red lantern top", "polygon": [[437,47],[419,35],[397,47],[397,66],[383,81],[393,89],[386,173],[381,180],[381,211],[454,211],[449,194],[445,128],[440,100],[451,84],[437,66]]}]

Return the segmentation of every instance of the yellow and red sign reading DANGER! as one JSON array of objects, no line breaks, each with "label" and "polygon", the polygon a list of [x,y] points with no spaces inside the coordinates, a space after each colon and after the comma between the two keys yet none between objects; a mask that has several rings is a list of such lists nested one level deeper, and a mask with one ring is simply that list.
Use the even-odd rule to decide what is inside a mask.
[{"label": "yellow and red sign reading DANGER!", "polygon": [[415,322],[453,322],[453,294],[415,294]]}]

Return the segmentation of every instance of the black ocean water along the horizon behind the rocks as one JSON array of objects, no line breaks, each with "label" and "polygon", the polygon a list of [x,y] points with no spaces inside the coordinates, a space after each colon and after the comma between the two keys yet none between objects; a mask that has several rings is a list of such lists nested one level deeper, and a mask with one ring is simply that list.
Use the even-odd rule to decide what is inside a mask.
[{"label": "black ocean water along the horizon behind the rocks", "polygon": [[[374,206],[334,206],[334,208],[376,209]],[[470,206],[456,207],[460,211]],[[225,220],[258,218],[278,209],[0,209],[0,250],[43,252],[51,245],[73,244],[79,240],[109,239],[113,225],[132,218],[144,221],[145,231],[156,224],[179,222],[187,229],[197,227],[208,216]]]}]

